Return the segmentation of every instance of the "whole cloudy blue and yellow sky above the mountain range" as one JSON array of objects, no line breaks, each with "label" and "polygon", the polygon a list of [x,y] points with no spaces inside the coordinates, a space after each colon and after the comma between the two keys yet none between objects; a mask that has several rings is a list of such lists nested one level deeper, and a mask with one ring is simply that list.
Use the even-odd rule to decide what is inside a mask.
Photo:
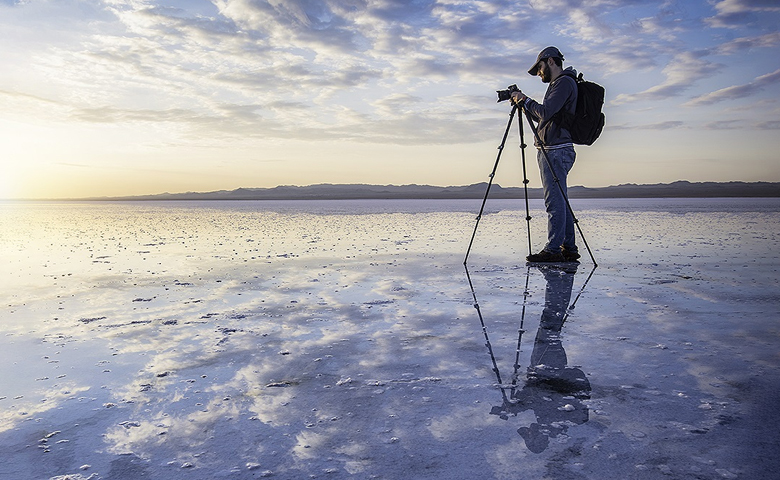
[{"label": "whole cloudy blue and yellow sky above the mountain range", "polygon": [[780,181],[779,27],[777,0],[0,0],[0,198],[485,182],[495,92],[541,100],[548,45],[606,88],[570,185]]}]

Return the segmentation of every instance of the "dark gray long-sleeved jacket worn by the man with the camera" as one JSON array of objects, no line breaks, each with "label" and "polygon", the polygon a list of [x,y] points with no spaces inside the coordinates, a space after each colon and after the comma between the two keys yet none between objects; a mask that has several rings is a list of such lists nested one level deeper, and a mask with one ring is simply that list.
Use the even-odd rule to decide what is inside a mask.
[{"label": "dark gray long-sleeved jacket worn by the man with the camera", "polygon": [[[565,128],[561,128],[559,122],[553,121],[553,116],[561,109],[574,114],[577,107],[577,71],[566,67],[564,71],[547,87],[542,103],[528,99],[525,102],[526,110],[531,117],[539,122],[537,126],[539,137],[545,147],[571,143],[571,134]],[[539,147],[539,142],[534,138],[534,145]]]}]

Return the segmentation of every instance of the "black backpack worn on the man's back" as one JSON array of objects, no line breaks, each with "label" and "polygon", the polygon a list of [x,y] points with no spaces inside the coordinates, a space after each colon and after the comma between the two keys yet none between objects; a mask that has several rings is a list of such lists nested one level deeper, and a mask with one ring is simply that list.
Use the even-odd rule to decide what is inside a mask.
[{"label": "black backpack worn on the man's back", "polygon": [[[569,76],[574,80],[574,76]],[[604,87],[587,82],[580,73],[577,82],[577,107],[574,115],[564,110],[558,112],[558,123],[571,133],[571,141],[579,145],[593,145],[604,129]]]}]

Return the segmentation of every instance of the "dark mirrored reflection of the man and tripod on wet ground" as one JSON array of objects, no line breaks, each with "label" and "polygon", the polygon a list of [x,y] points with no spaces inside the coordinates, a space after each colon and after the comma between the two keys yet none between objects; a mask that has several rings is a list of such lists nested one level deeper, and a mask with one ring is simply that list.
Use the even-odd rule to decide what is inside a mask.
[{"label": "dark mirrored reflection of the man and tripod on wet ground", "polygon": [[502,404],[494,406],[490,413],[506,420],[510,416],[517,416],[526,411],[533,412],[536,416],[536,422],[518,428],[517,433],[525,440],[526,447],[534,453],[543,452],[549,445],[551,438],[565,434],[570,426],[581,425],[588,421],[588,407],[583,403],[583,400],[590,398],[590,382],[580,368],[568,366],[566,351],[561,341],[561,329],[568,318],[568,310],[574,308],[579,296],[593,276],[595,267],[591,270],[571,307],[569,307],[569,302],[571,301],[577,265],[551,265],[539,267],[539,270],[546,282],[544,309],[534,339],[526,381],[520,387],[518,386],[519,357],[525,332],[523,325],[528,297],[528,280],[531,274],[530,267],[526,271],[514,372],[509,384],[504,384],[501,379],[488,330],[474,294],[468,268],[466,269],[472,294],[474,294],[474,307],[479,313],[482,333],[485,336],[493,371],[496,374],[503,400]]}]

